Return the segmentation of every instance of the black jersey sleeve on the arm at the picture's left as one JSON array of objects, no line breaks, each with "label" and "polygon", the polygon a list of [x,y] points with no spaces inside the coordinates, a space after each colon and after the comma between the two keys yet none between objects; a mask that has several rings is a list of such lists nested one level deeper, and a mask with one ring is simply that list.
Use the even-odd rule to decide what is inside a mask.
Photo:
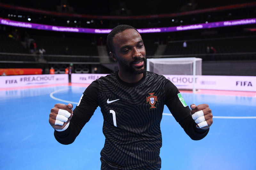
[{"label": "black jersey sleeve on the arm at the picture's left", "polygon": [[61,144],[71,144],[75,141],[84,125],[91,119],[94,111],[98,107],[99,84],[92,82],[84,91],[81,100],[73,110],[73,117],[69,126],[64,131],[54,130],[55,139]]}]

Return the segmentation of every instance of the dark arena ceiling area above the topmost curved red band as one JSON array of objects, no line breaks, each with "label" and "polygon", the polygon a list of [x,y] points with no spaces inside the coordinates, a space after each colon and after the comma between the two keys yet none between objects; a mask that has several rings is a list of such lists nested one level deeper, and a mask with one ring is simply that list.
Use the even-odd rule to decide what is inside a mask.
[{"label": "dark arena ceiling area above the topmost curved red band", "polygon": [[[67,2],[74,8],[75,13],[91,15],[149,15],[191,11],[231,4],[255,2],[255,0],[104,0],[104,1],[81,1],[81,0],[0,0],[4,4],[56,11],[57,5]],[[118,14],[124,8],[125,11]]]}]

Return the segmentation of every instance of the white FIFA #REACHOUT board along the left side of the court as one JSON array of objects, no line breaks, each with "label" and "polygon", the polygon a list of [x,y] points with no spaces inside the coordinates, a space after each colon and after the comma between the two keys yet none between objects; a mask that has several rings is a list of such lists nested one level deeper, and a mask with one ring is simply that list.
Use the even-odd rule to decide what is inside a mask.
[{"label": "white FIFA #REACHOUT board along the left side of the court", "polygon": [[68,83],[68,74],[1,76],[0,88]]}]

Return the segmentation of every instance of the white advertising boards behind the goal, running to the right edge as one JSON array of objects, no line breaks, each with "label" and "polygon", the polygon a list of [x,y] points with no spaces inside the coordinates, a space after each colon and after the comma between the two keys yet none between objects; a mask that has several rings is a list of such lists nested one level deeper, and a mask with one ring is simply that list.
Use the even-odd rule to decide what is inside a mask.
[{"label": "white advertising boards behind the goal, running to the right edge", "polygon": [[[72,83],[91,84],[107,74],[72,74]],[[193,89],[193,76],[164,75],[178,89]],[[256,92],[256,76],[196,76],[196,89]]]}]

